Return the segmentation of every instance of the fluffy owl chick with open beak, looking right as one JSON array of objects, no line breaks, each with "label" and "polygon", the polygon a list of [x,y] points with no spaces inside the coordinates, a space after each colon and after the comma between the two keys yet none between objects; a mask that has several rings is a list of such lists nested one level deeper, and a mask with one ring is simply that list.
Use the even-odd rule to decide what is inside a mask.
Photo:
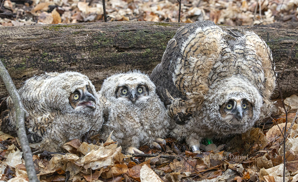
[{"label": "fluffy owl chick with open beak, looking right", "polygon": [[[77,72],[45,73],[24,82],[18,90],[29,113],[25,124],[29,143],[41,150],[61,151],[64,143],[81,138],[91,127],[97,133],[103,123],[103,108],[87,76]],[[15,109],[7,98],[9,114],[1,124],[15,132]]]}]

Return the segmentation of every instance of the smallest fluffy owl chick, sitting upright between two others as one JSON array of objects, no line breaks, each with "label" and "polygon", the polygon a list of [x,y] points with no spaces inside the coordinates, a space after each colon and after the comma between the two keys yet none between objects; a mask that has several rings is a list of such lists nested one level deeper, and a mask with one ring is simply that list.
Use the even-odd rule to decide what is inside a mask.
[{"label": "smallest fluffy owl chick, sitting upright between two others", "polygon": [[[107,78],[99,91],[104,107],[103,138],[111,138],[130,153],[140,144],[160,148],[156,141],[167,135],[169,117],[147,75],[121,73]],[[165,143],[164,143],[165,144]]]}]

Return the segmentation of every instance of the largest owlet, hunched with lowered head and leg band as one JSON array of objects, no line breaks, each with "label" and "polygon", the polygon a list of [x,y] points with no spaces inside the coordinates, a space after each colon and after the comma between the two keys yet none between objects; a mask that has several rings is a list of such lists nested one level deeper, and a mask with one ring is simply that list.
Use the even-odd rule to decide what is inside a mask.
[{"label": "largest owlet, hunched with lowered head and leg band", "polygon": [[203,138],[243,133],[270,112],[275,76],[267,44],[211,21],[180,28],[150,75],[171,116],[171,135],[198,151]]}]

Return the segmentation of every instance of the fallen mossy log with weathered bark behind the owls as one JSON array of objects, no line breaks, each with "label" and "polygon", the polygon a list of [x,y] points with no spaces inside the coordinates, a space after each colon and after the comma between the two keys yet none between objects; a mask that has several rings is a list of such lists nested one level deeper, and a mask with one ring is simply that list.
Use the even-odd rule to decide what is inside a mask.
[{"label": "fallen mossy log with weathered bark behind the owls", "polygon": [[[183,23],[148,21],[30,25],[0,27],[0,59],[17,88],[33,75],[78,71],[96,89],[107,76],[129,70],[150,74],[176,30]],[[268,27],[221,26],[224,30],[249,30],[261,36],[272,50],[280,74],[298,30]],[[285,67],[280,85],[283,97],[298,92],[298,45]],[[0,82],[0,98],[7,95]],[[278,98],[276,92],[273,98]]]}]

